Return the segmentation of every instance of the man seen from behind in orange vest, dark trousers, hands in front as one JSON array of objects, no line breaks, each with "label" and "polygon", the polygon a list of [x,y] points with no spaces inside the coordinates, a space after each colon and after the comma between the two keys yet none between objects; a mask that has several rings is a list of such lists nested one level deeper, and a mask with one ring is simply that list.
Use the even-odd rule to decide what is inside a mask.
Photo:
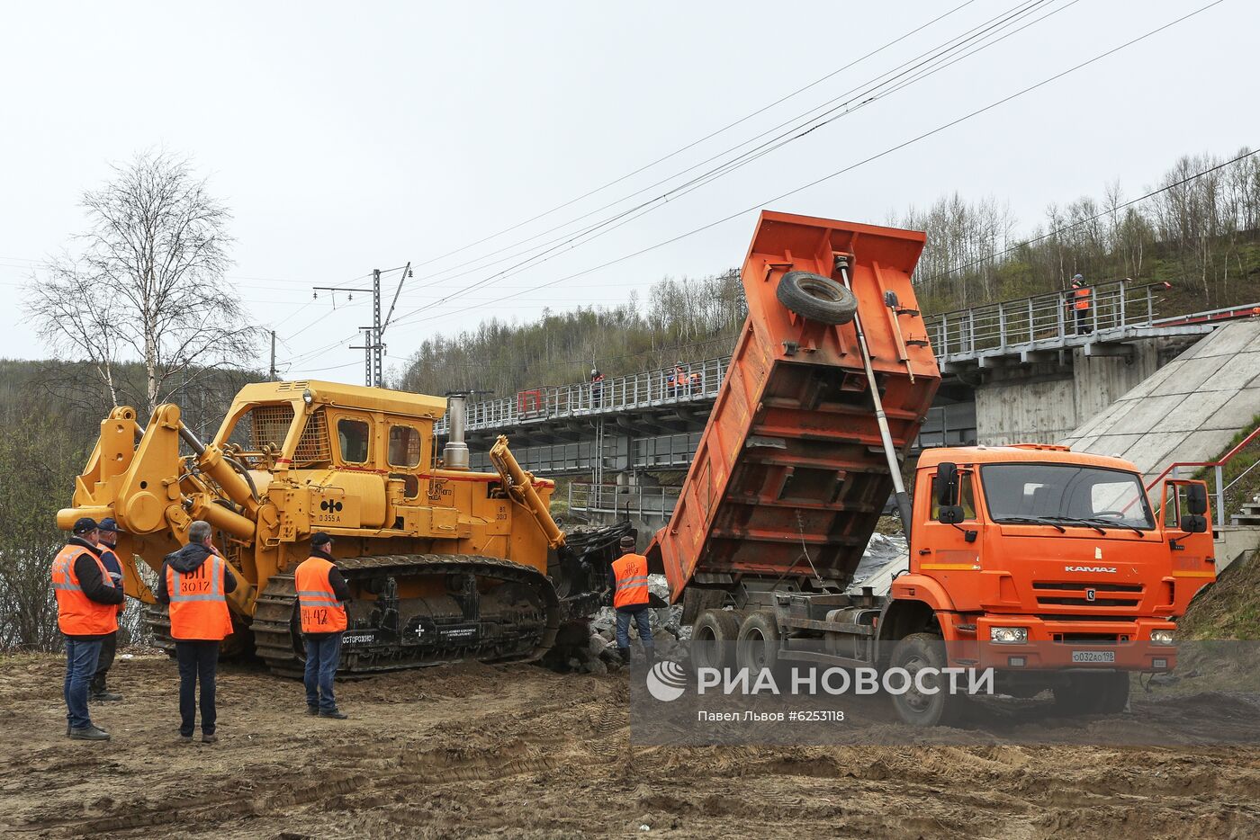
[{"label": "man seen from behind in orange vest, dark trousers, hands in front", "polygon": [[210,524],[195,521],[188,545],[168,554],[158,577],[158,602],[170,604],[170,637],[179,662],[179,739],[193,739],[197,724],[197,684],[202,684],[202,742],[213,744],[218,713],[214,681],[219,642],[232,633],[227,593],[236,576],[210,542]]}]

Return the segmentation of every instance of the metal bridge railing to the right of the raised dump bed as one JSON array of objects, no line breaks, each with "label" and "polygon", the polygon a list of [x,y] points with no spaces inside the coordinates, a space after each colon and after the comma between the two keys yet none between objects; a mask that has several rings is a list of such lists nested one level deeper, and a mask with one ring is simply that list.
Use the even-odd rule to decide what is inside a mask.
[{"label": "metal bridge railing to the right of the raised dump bed", "polygon": [[1150,326],[1158,304],[1157,287],[1163,283],[1120,280],[1091,286],[1084,324],[1077,322],[1072,292],[1063,291],[929,315],[924,326],[937,358],[1004,350],[1125,326]]}]

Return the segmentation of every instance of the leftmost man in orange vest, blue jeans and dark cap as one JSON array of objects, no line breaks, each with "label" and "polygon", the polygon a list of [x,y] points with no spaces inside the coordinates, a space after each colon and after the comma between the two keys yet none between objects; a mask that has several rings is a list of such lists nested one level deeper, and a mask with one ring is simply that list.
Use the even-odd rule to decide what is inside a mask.
[{"label": "leftmost man in orange vest, blue jeans and dark cap", "polygon": [[110,733],[93,725],[87,710],[87,690],[96,675],[101,641],[118,630],[122,589],[113,586],[96,548],[100,531],[94,519],[74,521],[71,542],[53,560],[53,594],[57,626],[66,636],[66,734],[81,741],[108,741]]}]

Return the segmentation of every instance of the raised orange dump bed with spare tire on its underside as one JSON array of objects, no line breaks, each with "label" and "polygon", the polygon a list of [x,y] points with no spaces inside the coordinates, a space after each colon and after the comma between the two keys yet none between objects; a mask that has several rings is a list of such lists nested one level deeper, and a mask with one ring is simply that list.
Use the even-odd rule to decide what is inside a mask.
[{"label": "raised orange dump bed with spare tire on its underside", "polygon": [[[648,550],[673,601],[687,587],[689,616],[740,587],[852,579],[893,489],[856,320],[903,457],[940,384],[910,285],[922,247],[915,230],[761,214],[742,273],[748,319],[674,514]],[[852,298],[837,295],[845,280],[856,320],[844,311]]]}]

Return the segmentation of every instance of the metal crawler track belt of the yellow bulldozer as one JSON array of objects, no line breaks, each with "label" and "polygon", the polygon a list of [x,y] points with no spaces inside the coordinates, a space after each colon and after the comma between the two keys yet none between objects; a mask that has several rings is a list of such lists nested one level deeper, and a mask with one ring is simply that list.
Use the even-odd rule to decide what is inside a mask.
[{"label": "metal crawler track belt of the yellow bulldozer", "polygon": [[[426,665],[438,665],[460,659],[478,659],[483,661],[522,661],[534,660],[543,656],[556,642],[556,635],[561,625],[561,604],[556,596],[556,589],[547,576],[537,569],[491,557],[478,557],[467,554],[384,554],[373,557],[353,557],[336,560],[346,582],[353,583],[357,578],[378,576],[382,573],[401,576],[436,576],[436,574],[475,574],[479,578],[494,578],[509,583],[528,587],[543,606],[541,621],[527,623],[541,623],[539,628],[527,630],[525,633],[534,633],[537,639],[528,651],[520,652],[520,644],[524,636],[510,639],[507,642],[499,640],[491,644],[474,644],[469,646],[446,645],[436,650],[431,656],[412,659],[407,661],[370,662],[358,661],[358,656],[343,649],[343,664],[339,676],[365,676],[373,673],[404,670],[411,667],[423,667]],[[296,645],[296,610],[297,591],[294,574],[275,574],[267,582],[266,588],[255,603],[253,615],[253,641],[255,652],[267,664],[275,674],[282,676],[301,676],[305,661]],[[537,615],[537,611],[533,611]],[[349,632],[355,628],[352,626]]]}]

